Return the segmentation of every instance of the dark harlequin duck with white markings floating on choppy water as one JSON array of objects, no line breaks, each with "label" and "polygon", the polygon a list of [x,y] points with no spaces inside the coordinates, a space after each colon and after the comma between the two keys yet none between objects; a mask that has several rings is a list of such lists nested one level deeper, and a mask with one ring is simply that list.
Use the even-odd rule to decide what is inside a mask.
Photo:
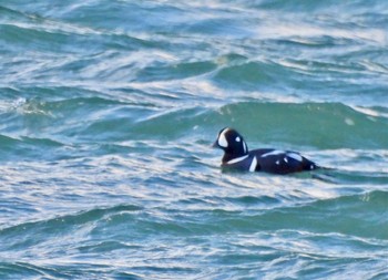
[{"label": "dark harlequin duck with white markings floating on choppy water", "polygon": [[229,127],[221,129],[213,146],[222,148],[225,153],[221,166],[236,170],[288,174],[319,168],[293,151],[259,148],[249,152],[243,136]]}]

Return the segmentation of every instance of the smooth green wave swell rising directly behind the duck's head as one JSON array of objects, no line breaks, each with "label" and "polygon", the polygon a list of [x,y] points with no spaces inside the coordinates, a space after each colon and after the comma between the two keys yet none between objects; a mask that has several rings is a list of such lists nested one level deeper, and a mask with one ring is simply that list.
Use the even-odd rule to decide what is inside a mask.
[{"label": "smooth green wave swell rising directly behind the duck's head", "polygon": [[[384,113],[371,116],[340,103],[238,102],[217,110],[183,108],[141,120],[144,133],[161,136],[157,127],[173,125],[180,131],[218,131],[234,126],[247,138],[262,143],[290,143],[319,148],[378,148],[387,146]],[[218,127],[217,127],[218,125]],[[133,126],[134,132],[136,125]],[[166,129],[169,131],[169,129]],[[165,129],[163,129],[164,133]],[[166,135],[167,136],[167,135]]]}]

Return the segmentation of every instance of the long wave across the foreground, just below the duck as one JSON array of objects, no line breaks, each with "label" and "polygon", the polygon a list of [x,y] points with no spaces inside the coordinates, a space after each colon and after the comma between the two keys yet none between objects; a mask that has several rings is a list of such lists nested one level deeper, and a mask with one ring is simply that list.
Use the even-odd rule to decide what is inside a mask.
[{"label": "long wave across the foreground, just below the duck", "polygon": [[[262,203],[262,198],[259,199]],[[263,197],[267,200],[267,198]],[[232,204],[251,204],[232,199]],[[303,205],[277,205],[274,208],[225,209],[173,209],[144,208],[137,205],[119,205],[64,215],[33,222],[2,228],[2,250],[17,250],[37,246],[50,237],[88,236],[110,237],[120,242],[130,237],[150,238],[153,235],[203,236],[226,232],[253,234],[258,231],[295,230],[316,234],[337,232],[370,240],[386,240],[388,193],[372,190],[365,194],[318,199]],[[255,203],[256,204],[256,203]],[[18,241],[13,236],[18,236]],[[33,235],[34,239],[29,237]],[[12,241],[11,241],[12,240]],[[85,248],[84,248],[85,249]]]}]

